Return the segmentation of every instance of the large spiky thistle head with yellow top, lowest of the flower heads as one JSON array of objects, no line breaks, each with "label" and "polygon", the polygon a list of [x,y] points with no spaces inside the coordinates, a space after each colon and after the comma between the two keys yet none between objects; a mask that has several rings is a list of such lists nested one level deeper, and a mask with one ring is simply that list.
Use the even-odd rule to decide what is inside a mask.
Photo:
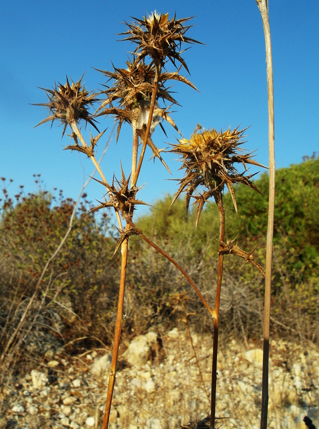
[{"label": "large spiky thistle head with yellow top, lowest of the flower heads", "polygon": [[[204,130],[198,124],[189,140],[181,139],[172,145],[172,152],[182,157],[181,168],[186,169],[173,202],[186,188],[187,210],[191,197],[195,198],[198,204],[196,227],[205,202],[213,196],[217,199],[222,194],[225,184],[232,196],[236,212],[233,184],[246,184],[260,193],[250,181],[253,175],[244,175],[248,171],[246,164],[263,167],[252,159],[252,152],[245,154],[244,150],[239,148],[244,143],[242,138],[245,130],[238,130],[237,127],[235,130],[229,128],[219,132],[214,128]],[[239,173],[235,164],[241,164],[244,172]],[[196,195],[193,196],[193,193]]]}]

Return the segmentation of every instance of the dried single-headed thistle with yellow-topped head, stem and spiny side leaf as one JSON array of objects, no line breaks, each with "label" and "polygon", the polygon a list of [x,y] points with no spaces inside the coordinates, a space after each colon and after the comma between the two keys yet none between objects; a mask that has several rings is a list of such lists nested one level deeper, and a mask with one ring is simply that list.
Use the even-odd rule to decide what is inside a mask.
[{"label": "dried single-headed thistle with yellow-topped head, stem and spiny side leaf", "polygon": [[[195,199],[195,203],[197,204],[196,227],[205,202],[212,197],[214,197],[220,215],[217,290],[215,307],[212,315],[214,323],[214,337],[211,379],[211,429],[214,428],[215,424],[217,347],[220,292],[223,276],[223,256],[225,253],[237,254],[244,258],[245,263],[253,263],[257,268],[261,269],[259,264],[253,260],[253,251],[247,253],[242,251],[237,245],[233,246],[234,240],[230,240],[227,244],[224,243],[225,210],[223,204],[223,191],[225,185],[232,197],[232,202],[236,212],[237,205],[232,188],[233,184],[245,184],[260,193],[257,187],[250,180],[253,175],[244,175],[244,173],[248,171],[246,164],[263,167],[261,164],[253,160],[252,153],[245,153],[245,151],[241,149],[241,145],[244,143],[242,140],[244,132],[245,130],[238,130],[238,127],[235,128],[235,130],[229,129],[226,131],[217,131],[214,128],[204,130],[200,124],[197,124],[196,129],[189,140],[181,139],[177,144],[172,145],[172,152],[181,156],[181,161],[183,162],[181,169],[185,169],[184,178],[180,180],[180,187],[173,202],[178,198],[181,192],[185,191],[186,208],[188,210],[190,199]],[[238,164],[244,167],[244,172],[238,172]]]}]

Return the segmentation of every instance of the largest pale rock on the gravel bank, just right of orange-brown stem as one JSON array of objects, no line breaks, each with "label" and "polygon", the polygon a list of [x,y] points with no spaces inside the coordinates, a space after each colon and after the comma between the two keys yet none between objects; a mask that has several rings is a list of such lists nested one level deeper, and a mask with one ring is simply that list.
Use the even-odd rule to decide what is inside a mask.
[{"label": "largest pale rock on the gravel bank, just right of orange-brown stem", "polygon": [[123,353],[123,357],[132,366],[142,366],[150,354],[152,344],[156,341],[157,335],[155,332],[148,332],[146,335],[138,335],[135,337],[129,348]]}]

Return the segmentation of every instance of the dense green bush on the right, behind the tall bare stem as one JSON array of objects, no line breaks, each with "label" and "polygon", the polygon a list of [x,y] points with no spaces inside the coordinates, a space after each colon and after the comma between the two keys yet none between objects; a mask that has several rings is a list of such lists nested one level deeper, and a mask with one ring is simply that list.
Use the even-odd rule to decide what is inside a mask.
[{"label": "dense green bush on the right, behind the tall bare stem", "polygon": [[[230,239],[237,236],[238,245],[246,251],[257,245],[255,253],[259,257],[256,260],[263,266],[268,216],[268,174],[263,173],[255,184],[264,196],[248,187],[235,188],[238,215],[231,198],[225,195],[226,236]],[[183,246],[187,249],[186,263],[187,258],[190,260],[195,254],[202,254],[202,263],[205,265],[214,263],[215,251],[218,250],[216,205],[213,202],[206,205],[195,231],[194,214],[190,213],[186,219],[184,202],[178,200],[175,202],[176,206],[174,204],[169,208],[171,201],[171,196],[158,201],[151,208],[150,215],[141,217],[136,222],[138,227],[146,235],[153,237],[154,241],[171,243],[172,248]],[[289,326],[290,332],[294,332],[291,329],[296,329],[299,335],[319,341],[318,158],[308,158],[301,164],[277,170],[275,205],[272,315],[277,324],[275,323],[274,328],[277,326],[278,329],[285,330],[284,326],[278,324],[280,322]],[[249,309],[253,311],[255,308],[259,315],[257,317],[255,314],[253,320],[256,317],[262,319],[263,279],[254,267],[246,265],[241,268],[242,262],[235,260],[233,255],[226,257],[225,275],[237,279],[241,287],[249,285],[249,296],[255,304],[244,305],[246,310],[243,311],[243,317]],[[222,295],[225,293],[224,281]],[[256,302],[259,303],[257,306]],[[251,315],[248,319],[251,319]],[[228,316],[227,320],[231,318]],[[253,326],[257,327],[253,323],[247,327],[248,333]],[[260,326],[259,324],[259,331]]]}]

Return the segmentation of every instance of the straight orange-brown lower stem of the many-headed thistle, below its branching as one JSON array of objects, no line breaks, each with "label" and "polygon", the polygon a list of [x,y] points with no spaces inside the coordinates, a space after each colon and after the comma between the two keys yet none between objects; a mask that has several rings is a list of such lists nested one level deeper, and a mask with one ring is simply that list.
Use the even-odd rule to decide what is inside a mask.
[{"label": "straight orange-brown lower stem of the many-headed thistle, below its branching", "polygon": [[[126,230],[127,229],[129,229],[128,224],[126,224]],[[121,245],[122,261],[121,261],[120,291],[118,296],[112,362],[111,362],[111,369],[110,369],[110,377],[108,380],[108,393],[106,397],[102,429],[106,429],[108,427],[108,420],[110,418],[111,402],[112,402],[112,396],[114,391],[117,356],[118,356],[118,349],[120,346],[120,335],[121,335],[122,322],[123,322],[123,302],[124,302],[124,291],[125,291],[128,242],[129,242],[129,239],[126,238]]]}]

